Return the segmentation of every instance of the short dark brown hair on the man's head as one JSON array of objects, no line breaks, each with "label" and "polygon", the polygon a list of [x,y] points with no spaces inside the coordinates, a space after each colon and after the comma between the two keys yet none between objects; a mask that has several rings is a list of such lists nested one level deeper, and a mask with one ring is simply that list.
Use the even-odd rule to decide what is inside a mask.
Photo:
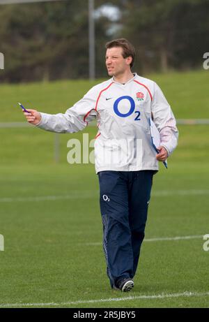
[{"label": "short dark brown hair on the man's head", "polygon": [[132,62],[130,64],[130,68],[132,68],[134,66],[134,59],[136,56],[134,46],[129,41],[127,41],[127,39],[120,38],[120,39],[114,39],[113,41],[109,41],[105,45],[106,49],[113,48],[113,47],[123,48],[123,53],[122,53],[123,58],[127,58],[130,56],[132,57]]}]

